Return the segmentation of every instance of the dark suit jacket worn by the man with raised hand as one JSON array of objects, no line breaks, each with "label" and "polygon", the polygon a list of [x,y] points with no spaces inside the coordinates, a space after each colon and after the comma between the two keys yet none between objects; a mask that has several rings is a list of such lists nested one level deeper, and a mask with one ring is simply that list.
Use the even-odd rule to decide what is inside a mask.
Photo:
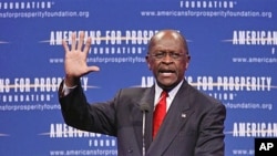
[{"label": "dark suit jacket worn by the man with raised hand", "polygon": [[[62,86],[62,85],[61,85]],[[177,92],[160,132],[152,141],[154,87],[120,90],[104,103],[89,105],[80,85],[60,97],[68,125],[117,137],[120,156],[142,155],[141,104],[148,104],[145,146],[147,156],[223,156],[225,106],[191,86]]]}]

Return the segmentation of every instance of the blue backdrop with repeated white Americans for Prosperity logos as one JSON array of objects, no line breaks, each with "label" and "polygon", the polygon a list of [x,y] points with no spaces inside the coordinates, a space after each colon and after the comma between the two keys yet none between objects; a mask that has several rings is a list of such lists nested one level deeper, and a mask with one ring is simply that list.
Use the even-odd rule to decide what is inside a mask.
[{"label": "blue backdrop with repeated white Americans for Prosperity logos", "polygon": [[255,137],[277,137],[275,0],[1,0],[0,155],[116,155],[116,138],[64,124],[58,85],[62,39],[85,31],[101,71],[82,79],[90,102],[150,86],[144,56],[160,29],[188,40],[186,79],[227,107],[226,156],[254,155]]}]

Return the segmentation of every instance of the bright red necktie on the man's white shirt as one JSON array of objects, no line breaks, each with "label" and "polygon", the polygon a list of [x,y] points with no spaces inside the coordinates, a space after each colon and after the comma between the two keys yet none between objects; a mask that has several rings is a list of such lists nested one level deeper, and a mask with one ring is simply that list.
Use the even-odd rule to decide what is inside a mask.
[{"label": "bright red necktie on the man's white shirt", "polygon": [[162,125],[164,116],[166,114],[166,97],[167,97],[167,92],[163,91],[154,111],[153,132],[152,132],[153,138],[157,134],[157,131]]}]

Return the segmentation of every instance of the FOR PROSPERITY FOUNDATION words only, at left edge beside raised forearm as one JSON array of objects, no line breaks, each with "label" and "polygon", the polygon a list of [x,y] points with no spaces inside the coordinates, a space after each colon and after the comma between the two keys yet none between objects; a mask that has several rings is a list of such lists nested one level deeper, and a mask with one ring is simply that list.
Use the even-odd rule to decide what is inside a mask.
[{"label": "FOR PROSPERITY FOUNDATION words only, at left edge beside raised forearm", "polygon": [[0,101],[2,103],[49,102],[51,92],[58,91],[62,77],[14,77],[0,79]]}]

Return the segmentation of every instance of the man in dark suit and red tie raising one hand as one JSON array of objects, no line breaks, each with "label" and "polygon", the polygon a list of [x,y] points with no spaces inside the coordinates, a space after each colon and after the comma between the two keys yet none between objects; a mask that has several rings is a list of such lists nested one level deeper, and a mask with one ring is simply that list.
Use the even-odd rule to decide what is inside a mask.
[{"label": "man in dark suit and red tie raising one hand", "polygon": [[[182,34],[162,30],[151,39],[146,62],[155,76],[152,87],[122,89],[113,100],[94,104],[86,102],[80,77],[100,69],[88,66],[85,61],[91,39],[82,48],[84,34],[81,32],[79,38],[76,43],[75,34],[72,35],[71,50],[63,41],[65,79],[60,86],[60,103],[66,124],[116,136],[120,156],[224,155],[226,110],[220,102],[204,95],[184,79],[191,56]],[[166,94],[163,97],[166,116],[161,117],[163,123],[154,132],[154,112],[162,92]],[[142,105],[148,106],[145,121]]]}]

